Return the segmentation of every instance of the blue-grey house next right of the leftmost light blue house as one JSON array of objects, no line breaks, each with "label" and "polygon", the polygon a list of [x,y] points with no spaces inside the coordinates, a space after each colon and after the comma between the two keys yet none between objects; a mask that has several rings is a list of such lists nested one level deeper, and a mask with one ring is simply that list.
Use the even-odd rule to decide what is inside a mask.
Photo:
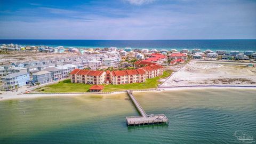
[{"label": "blue-grey house next right of the leftmost light blue house", "polygon": [[33,74],[33,82],[46,84],[52,82],[52,73],[50,71],[41,70]]}]

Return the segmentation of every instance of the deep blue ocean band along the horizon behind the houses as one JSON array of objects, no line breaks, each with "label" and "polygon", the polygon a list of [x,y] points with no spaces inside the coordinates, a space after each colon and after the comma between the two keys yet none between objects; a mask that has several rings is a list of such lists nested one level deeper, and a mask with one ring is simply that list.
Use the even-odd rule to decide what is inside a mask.
[{"label": "deep blue ocean band along the horizon behind the houses", "polygon": [[256,39],[215,39],[215,40],[49,40],[49,39],[0,39],[0,44],[47,45],[79,48],[132,47],[133,49],[201,49],[205,51],[236,50],[256,51]]}]

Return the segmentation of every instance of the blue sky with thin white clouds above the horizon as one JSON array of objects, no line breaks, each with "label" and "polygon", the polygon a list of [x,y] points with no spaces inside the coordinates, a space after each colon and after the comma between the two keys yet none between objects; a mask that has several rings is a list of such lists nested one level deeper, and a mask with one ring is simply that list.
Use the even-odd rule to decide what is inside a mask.
[{"label": "blue sky with thin white clouds above the horizon", "polygon": [[0,0],[0,39],[255,38],[255,0]]}]

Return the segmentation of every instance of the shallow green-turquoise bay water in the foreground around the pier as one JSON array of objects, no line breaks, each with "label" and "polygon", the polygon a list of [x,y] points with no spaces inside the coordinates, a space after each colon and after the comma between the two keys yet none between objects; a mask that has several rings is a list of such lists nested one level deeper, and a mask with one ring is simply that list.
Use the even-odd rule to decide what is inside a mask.
[{"label": "shallow green-turquoise bay water in the foreground around the pier", "polygon": [[[0,143],[236,143],[256,138],[256,90],[135,93],[147,114],[168,125],[129,126],[138,115],[126,94],[0,101]],[[24,112],[25,111],[25,112]]]}]

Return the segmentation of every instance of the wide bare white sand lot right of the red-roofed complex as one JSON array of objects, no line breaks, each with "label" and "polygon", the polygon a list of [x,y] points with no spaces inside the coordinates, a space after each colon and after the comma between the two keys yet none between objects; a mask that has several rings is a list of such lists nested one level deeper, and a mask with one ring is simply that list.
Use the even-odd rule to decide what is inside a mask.
[{"label": "wide bare white sand lot right of the red-roofed complex", "polygon": [[174,72],[160,87],[204,85],[256,86],[256,68],[240,63],[190,61]]}]

